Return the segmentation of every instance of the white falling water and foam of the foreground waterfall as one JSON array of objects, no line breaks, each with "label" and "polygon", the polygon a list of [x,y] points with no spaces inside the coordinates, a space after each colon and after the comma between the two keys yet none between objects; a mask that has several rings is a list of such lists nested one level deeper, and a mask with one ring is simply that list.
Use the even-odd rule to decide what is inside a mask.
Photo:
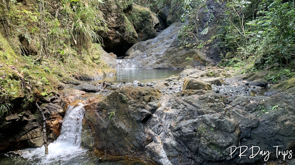
[{"label": "white falling water and foam of the foreground waterfall", "polygon": [[[82,103],[78,103],[76,106],[68,106],[60,136],[48,145],[49,154],[45,155],[44,145],[14,153],[27,159],[26,163],[30,162],[29,164],[81,164],[82,162],[79,162],[79,160],[87,157],[87,150],[80,148],[83,115]],[[18,163],[22,164],[22,162]]]}]

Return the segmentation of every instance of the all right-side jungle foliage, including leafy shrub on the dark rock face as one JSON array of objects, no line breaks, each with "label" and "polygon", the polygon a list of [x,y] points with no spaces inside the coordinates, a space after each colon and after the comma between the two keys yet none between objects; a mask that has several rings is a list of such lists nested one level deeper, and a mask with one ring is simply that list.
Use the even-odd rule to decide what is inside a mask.
[{"label": "all right-side jungle foliage, including leafy shrub on the dark rock face", "polygon": [[[211,40],[219,39],[221,56],[231,52],[232,64],[249,60],[257,66],[280,63],[295,66],[295,11],[293,0],[222,0],[215,1],[222,6],[224,23],[218,27],[218,34]],[[178,34],[180,48],[202,49],[201,35],[212,27],[200,31],[199,15],[207,12],[205,0],[181,0],[182,21],[188,21]],[[212,14],[209,22],[214,18]],[[208,25],[208,24],[207,24]],[[224,65],[227,65],[225,63]]]}]

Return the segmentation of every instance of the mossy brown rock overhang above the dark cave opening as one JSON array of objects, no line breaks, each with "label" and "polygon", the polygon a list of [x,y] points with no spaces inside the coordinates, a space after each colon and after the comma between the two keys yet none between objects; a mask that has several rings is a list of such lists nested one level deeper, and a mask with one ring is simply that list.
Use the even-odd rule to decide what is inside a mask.
[{"label": "mossy brown rock overhang above the dark cave opening", "polygon": [[157,36],[159,21],[150,9],[127,0],[106,0],[101,8],[109,30],[99,35],[107,52],[124,56],[133,44]]}]

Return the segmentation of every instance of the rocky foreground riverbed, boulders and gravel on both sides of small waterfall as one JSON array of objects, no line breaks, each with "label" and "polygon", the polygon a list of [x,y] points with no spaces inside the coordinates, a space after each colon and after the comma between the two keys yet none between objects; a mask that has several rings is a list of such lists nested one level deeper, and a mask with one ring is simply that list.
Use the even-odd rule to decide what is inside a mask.
[{"label": "rocky foreground riverbed, boulders and gravel on both sides of small waterfall", "polygon": [[[68,82],[61,86],[68,89],[47,98],[41,108],[46,112],[48,137],[55,139],[64,110],[75,97],[86,92],[106,93],[85,106],[81,145],[116,159],[184,165],[284,162],[282,156],[276,158],[273,146],[281,146],[283,151],[295,147],[294,90],[281,88],[294,77],[272,87],[263,76],[258,72],[231,77],[231,71],[203,67],[146,83]],[[266,95],[271,96],[260,90],[268,90]],[[111,112],[115,115],[110,120]],[[35,113],[31,110],[4,118],[2,128],[19,122],[27,125],[18,134],[1,134],[2,151],[15,143],[42,145],[42,135],[35,133],[39,127],[33,125],[41,118]],[[11,136],[14,141],[8,141]],[[249,149],[244,157],[238,152],[230,156],[230,146],[259,146],[271,152],[269,161],[264,162],[265,155],[260,154],[249,159]]]}]

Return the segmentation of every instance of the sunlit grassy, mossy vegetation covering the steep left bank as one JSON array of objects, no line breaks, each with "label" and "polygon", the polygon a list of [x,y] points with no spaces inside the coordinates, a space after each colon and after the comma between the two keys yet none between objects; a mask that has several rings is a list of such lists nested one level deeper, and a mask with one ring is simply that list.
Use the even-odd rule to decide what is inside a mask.
[{"label": "sunlit grassy, mossy vegetation covering the steep left bank", "polygon": [[[85,68],[99,73],[96,69],[108,67],[100,59],[98,31],[107,30],[101,0],[7,3],[0,2],[0,118],[56,93],[58,80],[81,79]],[[53,13],[52,6],[62,7]]]}]

